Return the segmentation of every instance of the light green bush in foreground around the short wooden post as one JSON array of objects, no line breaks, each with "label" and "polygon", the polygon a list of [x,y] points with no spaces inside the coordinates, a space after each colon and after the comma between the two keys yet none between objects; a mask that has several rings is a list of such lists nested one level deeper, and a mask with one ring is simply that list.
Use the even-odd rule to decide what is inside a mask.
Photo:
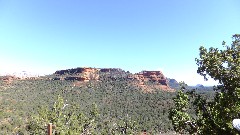
[{"label": "light green bush in foreground around the short wooden post", "polygon": [[46,134],[47,124],[52,123],[56,126],[53,130],[55,135],[89,134],[96,128],[94,120],[97,114],[95,104],[91,111],[91,118],[88,118],[83,113],[79,113],[76,106],[64,104],[63,98],[58,96],[51,110],[47,107],[40,108],[27,128],[30,134]]}]

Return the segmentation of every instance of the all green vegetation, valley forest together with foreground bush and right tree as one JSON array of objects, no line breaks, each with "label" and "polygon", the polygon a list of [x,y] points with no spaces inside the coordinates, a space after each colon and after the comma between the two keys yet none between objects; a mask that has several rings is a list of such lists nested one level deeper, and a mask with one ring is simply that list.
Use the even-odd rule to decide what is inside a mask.
[{"label": "all green vegetation, valley forest together with foreground bush and right tree", "polygon": [[219,81],[215,91],[169,79],[179,91],[146,93],[124,71],[85,83],[49,79],[54,74],[0,81],[0,134],[45,134],[48,123],[55,135],[238,134],[232,120],[240,117],[240,35],[233,39],[231,46],[223,42],[225,50],[200,47],[197,72]]}]

